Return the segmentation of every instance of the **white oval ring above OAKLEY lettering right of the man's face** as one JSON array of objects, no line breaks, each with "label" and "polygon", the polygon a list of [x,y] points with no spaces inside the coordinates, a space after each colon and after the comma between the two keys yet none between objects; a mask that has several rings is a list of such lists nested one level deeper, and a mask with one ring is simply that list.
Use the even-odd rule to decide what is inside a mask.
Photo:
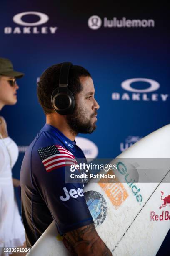
[{"label": "white oval ring above OAKLEY lettering right of the man's face", "polygon": [[[150,84],[150,87],[147,89],[134,89],[131,87],[131,84],[134,82],[147,82]],[[121,87],[129,92],[153,92],[159,89],[160,84],[155,80],[148,78],[132,78],[122,82]]]}]

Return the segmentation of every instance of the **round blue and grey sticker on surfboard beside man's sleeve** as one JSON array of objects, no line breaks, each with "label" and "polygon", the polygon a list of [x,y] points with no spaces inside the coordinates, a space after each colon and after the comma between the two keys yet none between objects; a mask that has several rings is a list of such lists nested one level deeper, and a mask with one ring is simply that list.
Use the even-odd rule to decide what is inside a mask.
[{"label": "round blue and grey sticker on surfboard beside man's sleeve", "polygon": [[84,196],[95,227],[100,226],[107,216],[107,203],[105,198],[99,192],[93,190],[85,192]]}]

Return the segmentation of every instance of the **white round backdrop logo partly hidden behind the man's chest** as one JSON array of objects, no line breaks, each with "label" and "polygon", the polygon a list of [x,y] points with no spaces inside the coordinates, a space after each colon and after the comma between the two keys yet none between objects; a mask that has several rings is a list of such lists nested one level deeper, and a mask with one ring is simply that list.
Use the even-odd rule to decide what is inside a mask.
[{"label": "white round backdrop logo partly hidden behind the man's chest", "polygon": [[87,162],[90,162],[96,158],[96,156],[98,155],[98,148],[94,142],[82,137],[76,137],[75,141],[77,146],[79,146],[79,148],[81,148],[81,150],[85,154]]}]

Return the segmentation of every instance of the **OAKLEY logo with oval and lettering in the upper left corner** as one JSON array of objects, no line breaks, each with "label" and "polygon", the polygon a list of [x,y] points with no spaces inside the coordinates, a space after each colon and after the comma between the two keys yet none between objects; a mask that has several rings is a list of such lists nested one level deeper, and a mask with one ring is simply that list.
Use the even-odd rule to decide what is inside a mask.
[{"label": "OAKLEY logo with oval and lettering in the upper left corner", "polygon": [[[25,22],[24,17],[27,16],[27,18],[31,18],[35,16],[39,20],[36,22]],[[34,17],[34,18],[35,18]],[[47,26],[41,26],[42,24],[47,23],[49,20],[49,17],[45,13],[40,12],[24,12],[24,13],[18,13],[13,17],[13,22],[17,25],[17,27],[5,27],[4,33],[5,34],[55,34],[57,27],[47,27]]]}]

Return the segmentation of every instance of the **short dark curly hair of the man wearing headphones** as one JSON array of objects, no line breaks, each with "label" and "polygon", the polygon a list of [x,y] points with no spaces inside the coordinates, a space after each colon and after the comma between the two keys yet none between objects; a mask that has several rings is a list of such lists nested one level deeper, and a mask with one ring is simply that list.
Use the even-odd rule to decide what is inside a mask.
[{"label": "short dark curly hair of the man wearing headphones", "polygon": [[[37,96],[45,115],[54,112],[51,104],[51,95],[54,89],[58,87],[60,68],[62,63],[52,65],[47,68],[41,75],[40,81],[37,83]],[[68,77],[68,88],[72,91],[74,98],[77,93],[81,92],[82,85],[80,77],[91,77],[90,73],[81,66],[73,65],[70,67]],[[76,103],[76,99],[75,99]]]}]

